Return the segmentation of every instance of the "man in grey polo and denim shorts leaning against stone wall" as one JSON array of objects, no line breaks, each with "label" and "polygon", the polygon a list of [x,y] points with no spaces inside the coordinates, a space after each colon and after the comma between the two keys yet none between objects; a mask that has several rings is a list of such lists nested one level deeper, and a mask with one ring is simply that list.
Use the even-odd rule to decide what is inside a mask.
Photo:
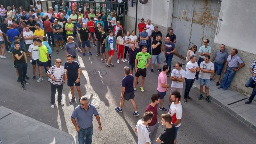
[{"label": "man in grey polo and denim shorts leaning against stone wall", "polygon": [[215,62],[214,62],[214,73],[212,74],[210,80],[213,81],[214,75],[217,71],[218,77],[217,77],[216,86],[219,85],[219,81],[220,81],[220,77],[221,77],[221,71],[224,67],[225,62],[227,61],[227,58],[228,58],[228,53],[225,50],[225,45],[222,44],[222,45],[220,45],[220,50],[217,50],[215,55],[212,58],[212,62],[214,60],[215,60]]}]

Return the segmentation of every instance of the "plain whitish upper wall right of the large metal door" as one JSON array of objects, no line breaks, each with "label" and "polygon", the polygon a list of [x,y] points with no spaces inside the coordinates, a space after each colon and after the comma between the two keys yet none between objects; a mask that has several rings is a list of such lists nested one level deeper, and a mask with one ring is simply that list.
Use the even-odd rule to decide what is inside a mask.
[{"label": "plain whitish upper wall right of the large metal door", "polygon": [[223,21],[214,42],[256,54],[255,7],[256,0],[222,0]]}]

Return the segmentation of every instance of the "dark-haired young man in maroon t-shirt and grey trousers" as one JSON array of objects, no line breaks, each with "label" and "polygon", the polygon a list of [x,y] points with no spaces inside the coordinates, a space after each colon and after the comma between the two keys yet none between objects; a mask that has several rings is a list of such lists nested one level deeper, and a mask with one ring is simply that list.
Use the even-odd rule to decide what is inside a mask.
[{"label": "dark-haired young man in maroon t-shirt and grey trousers", "polygon": [[149,130],[150,130],[149,137],[151,139],[152,144],[154,144],[155,139],[156,139],[157,129],[158,129],[157,107],[158,107],[158,103],[160,101],[160,94],[153,94],[151,96],[151,100],[152,100],[152,102],[147,106],[147,108],[145,109],[145,112],[152,111],[154,114],[151,123],[148,124]]}]

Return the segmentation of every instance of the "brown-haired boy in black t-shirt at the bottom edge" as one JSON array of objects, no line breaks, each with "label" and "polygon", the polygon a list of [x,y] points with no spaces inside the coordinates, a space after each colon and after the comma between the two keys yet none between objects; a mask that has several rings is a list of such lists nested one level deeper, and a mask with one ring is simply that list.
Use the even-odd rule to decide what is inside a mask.
[{"label": "brown-haired boy in black t-shirt at the bottom edge", "polygon": [[161,144],[173,144],[176,128],[172,122],[172,116],[170,114],[162,114],[162,125],[166,127],[164,131],[161,132],[160,136],[156,139],[156,143]]}]

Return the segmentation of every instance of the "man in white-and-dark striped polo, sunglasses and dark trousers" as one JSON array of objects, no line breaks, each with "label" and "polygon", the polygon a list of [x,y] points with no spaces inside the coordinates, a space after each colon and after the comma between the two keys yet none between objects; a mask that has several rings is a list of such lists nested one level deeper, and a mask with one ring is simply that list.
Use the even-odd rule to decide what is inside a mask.
[{"label": "man in white-and-dark striped polo, sunglasses and dark trousers", "polygon": [[51,108],[54,108],[56,89],[58,91],[58,105],[64,105],[61,102],[63,85],[65,84],[65,68],[61,65],[61,60],[56,59],[54,66],[50,67],[46,75],[51,79]]}]

